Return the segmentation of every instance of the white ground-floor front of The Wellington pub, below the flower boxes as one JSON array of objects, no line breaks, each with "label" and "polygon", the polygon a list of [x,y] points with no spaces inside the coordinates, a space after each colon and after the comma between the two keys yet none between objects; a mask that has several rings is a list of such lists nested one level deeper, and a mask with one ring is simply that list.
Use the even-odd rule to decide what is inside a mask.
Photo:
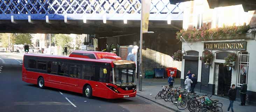
[{"label": "white ground-floor front of The Wellington pub, below the flower boxes", "polygon": [[[255,34],[254,34],[255,35]],[[220,40],[183,42],[181,85],[188,70],[198,79],[195,91],[226,97],[232,84],[236,85],[236,100],[240,101],[240,87],[243,81],[248,85],[247,95],[250,103],[256,101],[256,40]],[[211,62],[202,62],[204,52],[211,51]],[[229,53],[236,53],[237,59],[232,66],[225,66]],[[228,100],[228,99],[227,99]]]}]

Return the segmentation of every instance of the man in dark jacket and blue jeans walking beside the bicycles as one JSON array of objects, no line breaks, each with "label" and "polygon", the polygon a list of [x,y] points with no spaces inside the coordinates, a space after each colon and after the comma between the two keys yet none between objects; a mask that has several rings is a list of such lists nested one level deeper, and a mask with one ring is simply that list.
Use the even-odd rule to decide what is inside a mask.
[{"label": "man in dark jacket and blue jeans walking beside the bicycles", "polygon": [[227,112],[229,112],[230,108],[231,108],[231,111],[234,112],[234,110],[233,110],[233,103],[234,103],[234,101],[236,99],[235,84],[232,84],[232,88],[230,88],[228,90],[228,96],[229,96],[229,106],[228,106],[228,111]]}]

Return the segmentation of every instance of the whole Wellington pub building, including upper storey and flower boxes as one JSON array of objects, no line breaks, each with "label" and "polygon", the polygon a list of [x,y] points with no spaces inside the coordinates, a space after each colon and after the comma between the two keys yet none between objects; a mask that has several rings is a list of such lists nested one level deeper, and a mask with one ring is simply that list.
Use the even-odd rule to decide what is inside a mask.
[{"label": "whole Wellington pub building, including upper storey and flower boxes", "polygon": [[[182,41],[181,86],[190,70],[198,79],[196,92],[228,98],[227,92],[235,84],[236,101],[240,102],[240,88],[246,81],[246,103],[256,105],[256,10],[245,12],[243,5],[210,8],[208,0],[193,0],[184,2],[183,13],[183,30],[176,33]],[[250,26],[250,30],[235,31],[244,26]],[[219,28],[229,35],[218,32]],[[201,29],[215,31],[219,36],[205,36]],[[208,52],[213,58],[203,62]],[[230,53],[237,55],[236,60],[225,66]]]}]

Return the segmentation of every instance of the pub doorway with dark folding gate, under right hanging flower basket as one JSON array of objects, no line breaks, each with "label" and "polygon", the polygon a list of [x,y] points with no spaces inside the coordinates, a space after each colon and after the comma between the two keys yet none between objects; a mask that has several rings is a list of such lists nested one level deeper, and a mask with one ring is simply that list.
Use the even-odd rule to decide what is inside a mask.
[{"label": "pub doorway with dark folding gate, under right hanging flower basket", "polygon": [[215,63],[214,95],[228,98],[228,90],[231,86],[232,70],[228,70],[223,63]]}]

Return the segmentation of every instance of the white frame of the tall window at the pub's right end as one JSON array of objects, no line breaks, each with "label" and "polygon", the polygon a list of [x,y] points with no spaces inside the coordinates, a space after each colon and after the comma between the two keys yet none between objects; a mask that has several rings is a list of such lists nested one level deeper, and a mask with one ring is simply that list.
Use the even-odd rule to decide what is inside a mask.
[{"label": "white frame of the tall window at the pub's right end", "polygon": [[[236,86],[237,87],[241,87],[241,85],[242,84],[240,84],[240,70],[241,70],[241,65],[242,66],[247,66],[247,72],[246,72],[246,84],[247,84],[247,81],[248,81],[248,70],[249,70],[249,57],[250,57],[250,53],[249,52],[247,52],[247,54],[242,54],[243,52],[247,52],[247,51],[241,51],[241,52],[239,52],[239,64],[238,64],[238,70],[237,70],[237,84],[236,84]],[[242,62],[242,56],[247,56],[247,62]],[[244,63],[246,63],[246,64],[244,64]]]}]

